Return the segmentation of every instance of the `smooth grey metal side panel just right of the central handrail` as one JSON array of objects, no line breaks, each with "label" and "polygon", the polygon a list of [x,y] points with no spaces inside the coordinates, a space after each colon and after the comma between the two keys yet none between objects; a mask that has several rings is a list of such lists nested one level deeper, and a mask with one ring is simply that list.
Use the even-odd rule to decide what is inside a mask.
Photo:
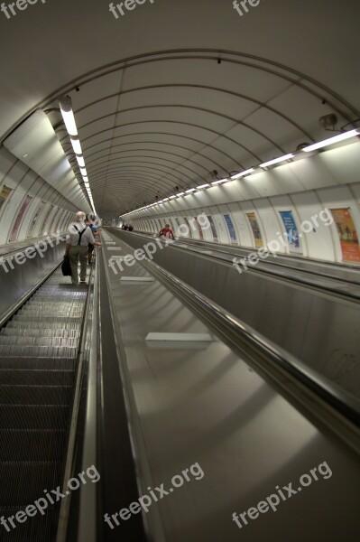
[{"label": "smooth grey metal side panel just right of the central handrail", "polygon": [[[133,248],[149,242],[123,231],[116,236]],[[153,261],[360,397],[359,304],[251,270],[240,275],[234,266],[171,246],[158,248]]]}]

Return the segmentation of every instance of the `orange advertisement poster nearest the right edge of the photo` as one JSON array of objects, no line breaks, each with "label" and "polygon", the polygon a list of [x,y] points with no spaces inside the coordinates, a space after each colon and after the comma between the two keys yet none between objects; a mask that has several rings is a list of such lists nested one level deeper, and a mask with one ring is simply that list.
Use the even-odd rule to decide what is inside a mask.
[{"label": "orange advertisement poster nearest the right edge of the photo", "polygon": [[343,260],[346,262],[360,262],[359,238],[353,217],[348,209],[330,209],[337,225]]}]

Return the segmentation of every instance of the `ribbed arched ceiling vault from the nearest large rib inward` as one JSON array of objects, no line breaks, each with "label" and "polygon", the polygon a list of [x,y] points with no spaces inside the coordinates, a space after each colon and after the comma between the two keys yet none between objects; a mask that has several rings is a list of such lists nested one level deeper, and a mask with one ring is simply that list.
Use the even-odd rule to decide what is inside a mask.
[{"label": "ribbed arched ceiling vault from the nearest large rib inward", "polygon": [[89,70],[39,105],[56,108],[66,92],[100,214],[143,206],[175,186],[210,181],[213,170],[221,177],[323,138],[318,118],[328,113],[337,114],[338,126],[360,117],[321,80],[247,52],[136,55]]}]

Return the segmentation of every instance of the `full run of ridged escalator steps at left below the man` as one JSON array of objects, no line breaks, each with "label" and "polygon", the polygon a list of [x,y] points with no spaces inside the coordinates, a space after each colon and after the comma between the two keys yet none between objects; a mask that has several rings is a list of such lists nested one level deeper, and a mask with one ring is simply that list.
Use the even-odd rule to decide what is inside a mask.
[{"label": "full run of ridged escalator steps at left below the man", "polygon": [[[61,486],[88,286],[60,269],[0,332],[0,540],[50,542],[60,503],[16,512]],[[30,514],[29,514],[30,515]],[[7,527],[5,527],[5,525]],[[14,527],[15,526],[15,527]]]}]

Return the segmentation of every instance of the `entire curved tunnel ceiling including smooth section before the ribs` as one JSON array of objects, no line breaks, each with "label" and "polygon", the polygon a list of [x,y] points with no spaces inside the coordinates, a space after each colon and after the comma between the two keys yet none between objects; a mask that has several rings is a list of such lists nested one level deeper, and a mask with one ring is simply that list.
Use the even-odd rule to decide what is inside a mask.
[{"label": "entire curved tunnel ceiling including smooth section before the ribs", "polygon": [[[61,4],[65,9],[69,2]],[[98,14],[106,14],[107,4],[91,5],[81,23],[88,29],[96,26]],[[170,5],[176,6],[180,27],[182,23],[181,38]],[[17,59],[23,83],[12,100],[6,85],[0,91],[1,106],[6,100],[11,103],[5,113],[7,126],[3,117],[3,137],[36,107],[51,114],[59,107],[60,95],[68,93],[101,215],[142,207],[157,196],[162,199],[208,182],[214,170],[218,178],[225,177],[324,138],[328,133],[318,118],[328,113],[337,115],[337,128],[357,126],[357,53],[340,49],[330,23],[337,17],[337,27],[347,24],[346,42],[355,44],[355,12],[360,10],[353,3],[353,13],[341,11],[332,1],[317,0],[311,5],[309,9],[292,0],[286,6],[269,0],[243,21],[230,0],[200,0],[195,9],[188,1],[179,6],[175,0],[156,0],[154,5],[139,5],[124,21],[106,14],[106,21],[97,26],[97,34],[107,34],[101,47],[98,37],[91,45],[90,35],[84,42],[81,35],[67,40],[60,21],[59,26],[52,26],[52,41],[61,42],[61,51],[58,56],[47,53],[50,56],[43,63],[41,79],[32,79],[31,95],[26,94],[26,77],[32,77],[32,58],[28,63]],[[44,19],[51,13],[63,13],[55,2],[37,7]],[[201,7],[203,14],[208,10],[206,26],[204,21],[199,24]],[[71,13],[70,24],[74,24],[74,7]],[[186,14],[193,15],[187,23]],[[146,34],[136,34],[142,40],[133,36],[127,41],[135,19],[142,27],[146,17],[152,27],[148,26]],[[112,37],[119,24],[124,34]],[[84,30],[76,28],[80,34]],[[159,41],[162,48],[156,51],[154,45]],[[115,60],[111,60],[111,44],[119,45]],[[174,49],[174,45],[182,47]],[[46,84],[44,75],[49,76]],[[11,87],[13,79],[8,80]],[[28,107],[34,95],[42,98]],[[14,117],[19,110],[22,115]],[[58,126],[57,133],[70,153],[65,129]]]}]

